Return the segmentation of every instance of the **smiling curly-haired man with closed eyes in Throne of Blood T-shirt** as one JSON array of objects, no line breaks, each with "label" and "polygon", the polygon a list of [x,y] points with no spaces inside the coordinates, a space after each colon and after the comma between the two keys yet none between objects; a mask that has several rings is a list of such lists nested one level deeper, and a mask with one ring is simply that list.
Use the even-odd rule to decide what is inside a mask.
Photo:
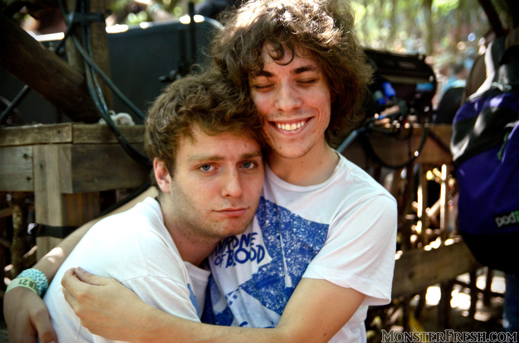
[{"label": "smiling curly-haired man with closed eyes in Throne of Blood T-shirt", "polygon": [[[235,327],[167,315],[113,280],[83,272],[78,280],[71,271],[65,294],[89,330],[153,342],[366,340],[367,306],[391,297],[397,210],[383,187],[330,147],[356,122],[371,75],[350,12],[333,5],[249,1],[214,40],[215,65],[250,95],[269,145],[253,222],[208,258],[204,319]],[[110,318],[125,323],[100,316],[86,294],[114,300]]]}]

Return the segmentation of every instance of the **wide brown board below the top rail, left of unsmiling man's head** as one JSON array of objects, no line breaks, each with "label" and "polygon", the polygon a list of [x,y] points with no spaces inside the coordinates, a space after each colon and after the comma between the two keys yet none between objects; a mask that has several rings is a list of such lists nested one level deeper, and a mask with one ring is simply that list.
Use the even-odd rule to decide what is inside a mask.
[{"label": "wide brown board below the top rail, left of unsmiling man's head", "polygon": [[151,171],[119,144],[60,144],[60,155],[61,191],[67,194],[140,187]]}]

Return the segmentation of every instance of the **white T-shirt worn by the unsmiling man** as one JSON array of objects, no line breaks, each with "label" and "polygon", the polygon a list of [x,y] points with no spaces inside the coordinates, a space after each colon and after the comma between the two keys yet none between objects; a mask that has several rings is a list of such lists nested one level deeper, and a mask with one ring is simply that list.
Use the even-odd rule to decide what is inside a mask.
[{"label": "white T-shirt worn by the unsmiling man", "polygon": [[95,224],[65,260],[43,298],[59,342],[109,342],[81,326],[65,301],[63,273],[78,266],[118,280],[162,311],[200,321],[197,312],[203,309],[209,271],[182,260],[155,199],[146,198]]}]

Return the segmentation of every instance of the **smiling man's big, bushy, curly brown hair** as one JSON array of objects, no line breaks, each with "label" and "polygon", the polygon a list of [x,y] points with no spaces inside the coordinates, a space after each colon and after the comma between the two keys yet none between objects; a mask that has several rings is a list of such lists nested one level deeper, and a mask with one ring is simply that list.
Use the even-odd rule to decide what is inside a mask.
[{"label": "smiling man's big, bushy, curly brown hair", "polygon": [[[285,53],[292,59],[298,48],[306,48],[329,78],[332,103],[326,140],[356,125],[372,68],[353,31],[348,6],[336,0],[250,0],[223,13],[224,28],[213,40],[213,62],[231,83],[249,94],[248,78],[263,68],[265,45],[274,47],[270,56],[280,61]],[[336,142],[335,142],[336,143]]]}]

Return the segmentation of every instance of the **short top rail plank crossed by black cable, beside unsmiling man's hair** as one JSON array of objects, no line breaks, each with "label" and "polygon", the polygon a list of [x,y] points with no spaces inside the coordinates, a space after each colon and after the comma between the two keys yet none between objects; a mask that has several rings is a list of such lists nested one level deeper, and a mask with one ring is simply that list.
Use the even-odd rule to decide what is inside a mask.
[{"label": "short top rail plank crossed by black cable, beside unsmiling man's hair", "polygon": [[[144,125],[119,125],[117,129],[129,143],[144,142]],[[73,141],[76,144],[117,143],[115,135],[106,125],[74,124]]]}]

